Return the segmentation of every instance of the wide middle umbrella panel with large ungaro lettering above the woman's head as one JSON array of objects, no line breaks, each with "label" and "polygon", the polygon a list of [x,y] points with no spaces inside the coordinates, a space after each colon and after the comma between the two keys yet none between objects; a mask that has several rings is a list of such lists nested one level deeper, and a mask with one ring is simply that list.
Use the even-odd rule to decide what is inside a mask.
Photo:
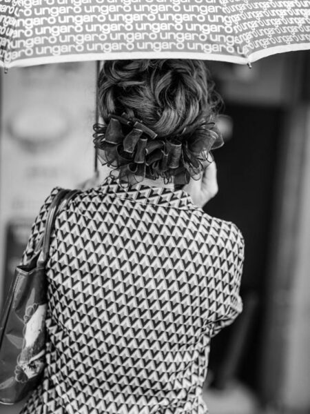
[{"label": "wide middle umbrella panel with large ungaro lettering above the woman's head", "polygon": [[[163,53],[237,55],[220,6],[190,1],[41,0],[19,8],[6,66],[64,60],[161,57]],[[223,19],[223,17],[222,17]],[[6,43],[8,45],[8,43]],[[151,56],[152,55],[152,56]],[[145,55],[146,57],[146,55]],[[34,63],[31,63],[34,61]],[[13,66],[13,65],[12,65]]]}]

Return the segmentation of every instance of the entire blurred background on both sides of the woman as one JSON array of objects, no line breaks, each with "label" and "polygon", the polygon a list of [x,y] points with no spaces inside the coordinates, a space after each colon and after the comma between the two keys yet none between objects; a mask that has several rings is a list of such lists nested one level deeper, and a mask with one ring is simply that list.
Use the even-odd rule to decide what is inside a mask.
[{"label": "entire blurred background on both sides of the woman", "polygon": [[[245,266],[244,311],[213,339],[205,399],[211,414],[310,413],[310,53],[208,67],[226,142],[205,211],[240,228]],[[0,80],[1,307],[45,197],[92,175],[96,63]]]}]

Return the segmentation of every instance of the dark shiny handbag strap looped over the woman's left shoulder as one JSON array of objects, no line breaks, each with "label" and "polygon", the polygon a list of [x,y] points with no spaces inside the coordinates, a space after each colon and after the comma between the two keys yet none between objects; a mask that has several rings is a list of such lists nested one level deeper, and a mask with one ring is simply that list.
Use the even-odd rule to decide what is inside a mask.
[{"label": "dark shiny handbag strap looped over the woman's left shoulder", "polygon": [[50,236],[52,234],[52,231],[54,230],[56,215],[59,211],[63,209],[65,204],[68,203],[69,199],[71,199],[76,193],[78,193],[78,190],[68,190],[62,188],[52,200],[52,204],[50,205],[50,208],[48,210],[48,216],[46,217],[45,230],[43,234],[43,243],[41,248],[41,254],[38,259],[38,264],[44,266],[45,263],[48,261],[48,252],[50,250]]}]

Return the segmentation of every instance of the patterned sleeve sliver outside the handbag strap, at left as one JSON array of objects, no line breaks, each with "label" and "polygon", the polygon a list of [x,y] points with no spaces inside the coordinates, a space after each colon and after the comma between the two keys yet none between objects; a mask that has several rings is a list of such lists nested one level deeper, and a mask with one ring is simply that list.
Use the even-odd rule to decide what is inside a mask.
[{"label": "patterned sleeve sliver outside the handbag strap, at left", "polygon": [[52,204],[52,200],[54,199],[56,194],[59,193],[59,190],[61,190],[60,187],[55,187],[52,189],[52,192],[50,193],[48,198],[45,199],[44,204],[41,206],[39,210],[39,214],[37,215],[37,218],[34,220],[34,223],[32,224],[28,243],[27,243],[27,246],[25,247],[25,250],[23,251],[23,256],[21,258],[22,265],[30,264],[32,260],[34,251],[39,245],[41,237],[43,236],[43,233],[44,233],[45,221],[48,216],[48,209],[50,208],[50,205]]}]

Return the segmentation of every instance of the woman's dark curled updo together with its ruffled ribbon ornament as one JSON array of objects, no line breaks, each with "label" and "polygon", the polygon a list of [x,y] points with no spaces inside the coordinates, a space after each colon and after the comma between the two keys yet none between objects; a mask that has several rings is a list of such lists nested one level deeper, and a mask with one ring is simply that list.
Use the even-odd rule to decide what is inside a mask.
[{"label": "woman's dark curled updo together with its ruffled ribbon ornament", "polygon": [[221,100],[203,61],[105,61],[98,88],[104,125],[94,125],[94,144],[122,182],[187,184],[223,145],[214,122]]}]

